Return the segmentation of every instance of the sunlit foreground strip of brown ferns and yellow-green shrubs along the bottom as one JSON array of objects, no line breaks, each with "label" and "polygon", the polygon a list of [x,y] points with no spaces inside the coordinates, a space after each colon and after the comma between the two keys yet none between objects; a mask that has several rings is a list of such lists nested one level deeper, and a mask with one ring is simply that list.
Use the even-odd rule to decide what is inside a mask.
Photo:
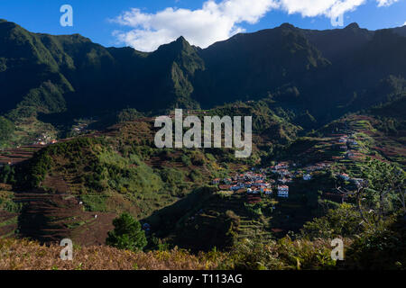
[{"label": "sunlit foreground strip of brown ferns and yellow-green shrubs along the bottom", "polygon": [[[345,240],[346,242],[346,240]],[[132,252],[114,247],[74,247],[73,260],[61,260],[62,247],[27,239],[0,239],[0,270],[318,270],[335,269],[326,240],[260,243],[245,239],[227,252],[197,255],[177,247]]]}]

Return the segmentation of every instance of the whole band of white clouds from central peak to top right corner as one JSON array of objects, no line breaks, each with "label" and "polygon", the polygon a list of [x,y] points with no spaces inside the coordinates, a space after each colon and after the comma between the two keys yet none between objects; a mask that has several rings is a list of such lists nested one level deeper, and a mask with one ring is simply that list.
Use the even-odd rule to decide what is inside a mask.
[{"label": "whole band of white clouds from central peak to top right corner", "polygon": [[[206,48],[218,40],[226,40],[245,31],[241,23],[257,23],[272,9],[303,17],[325,15],[337,17],[353,11],[367,0],[207,0],[197,10],[166,8],[155,14],[132,8],[112,22],[130,27],[115,31],[120,43],[143,51],[152,51],[161,44],[184,36],[191,44]],[[372,0],[371,0],[372,1]],[[374,0],[388,6],[399,0]]]}]

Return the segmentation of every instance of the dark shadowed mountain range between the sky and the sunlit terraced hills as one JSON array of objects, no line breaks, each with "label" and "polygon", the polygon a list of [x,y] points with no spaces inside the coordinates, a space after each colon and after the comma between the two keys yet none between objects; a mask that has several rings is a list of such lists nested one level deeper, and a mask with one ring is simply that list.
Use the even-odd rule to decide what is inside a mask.
[{"label": "dark shadowed mountain range between the sky and the sunlit terraced hills", "polygon": [[371,91],[380,81],[405,77],[405,29],[367,31],[353,23],[309,31],[282,24],[208,49],[180,37],[143,53],[105,48],[78,34],[32,33],[3,20],[1,112],[67,112],[72,118],[128,106],[159,112],[272,97],[277,105],[332,120],[364,108],[359,99],[379,102]]}]

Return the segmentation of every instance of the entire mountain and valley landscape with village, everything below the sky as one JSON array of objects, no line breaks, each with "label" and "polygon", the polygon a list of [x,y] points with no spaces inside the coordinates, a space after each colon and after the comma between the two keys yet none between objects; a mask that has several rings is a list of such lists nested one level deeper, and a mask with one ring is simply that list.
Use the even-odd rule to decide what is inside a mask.
[{"label": "entire mountain and valley landscape with village, everything below the sky", "polygon": [[[0,268],[71,268],[50,256],[71,238],[84,268],[405,269],[405,34],[285,23],[144,53],[0,20]],[[253,116],[252,157],[156,148],[176,107]],[[39,245],[13,238],[51,246],[27,265]]]}]

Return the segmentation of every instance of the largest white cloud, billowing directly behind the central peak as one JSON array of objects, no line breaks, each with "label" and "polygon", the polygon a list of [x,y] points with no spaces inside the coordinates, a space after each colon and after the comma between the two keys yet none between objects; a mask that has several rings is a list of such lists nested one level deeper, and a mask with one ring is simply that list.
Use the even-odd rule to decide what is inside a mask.
[{"label": "largest white cloud, billowing directly behind the central peak", "polygon": [[244,31],[239,23],[257,23],[264,14],[276,8],[274,0],[224,0],[205,2],[201,9],[166,8],[156,14],[144,14],[133,8],[115,18],[116,23],[132,27],[132,31],[115,31],[118,40],[135,49],[151,51],[160,44],[184,36],[202,48],[218,40],[226,40]]}]

